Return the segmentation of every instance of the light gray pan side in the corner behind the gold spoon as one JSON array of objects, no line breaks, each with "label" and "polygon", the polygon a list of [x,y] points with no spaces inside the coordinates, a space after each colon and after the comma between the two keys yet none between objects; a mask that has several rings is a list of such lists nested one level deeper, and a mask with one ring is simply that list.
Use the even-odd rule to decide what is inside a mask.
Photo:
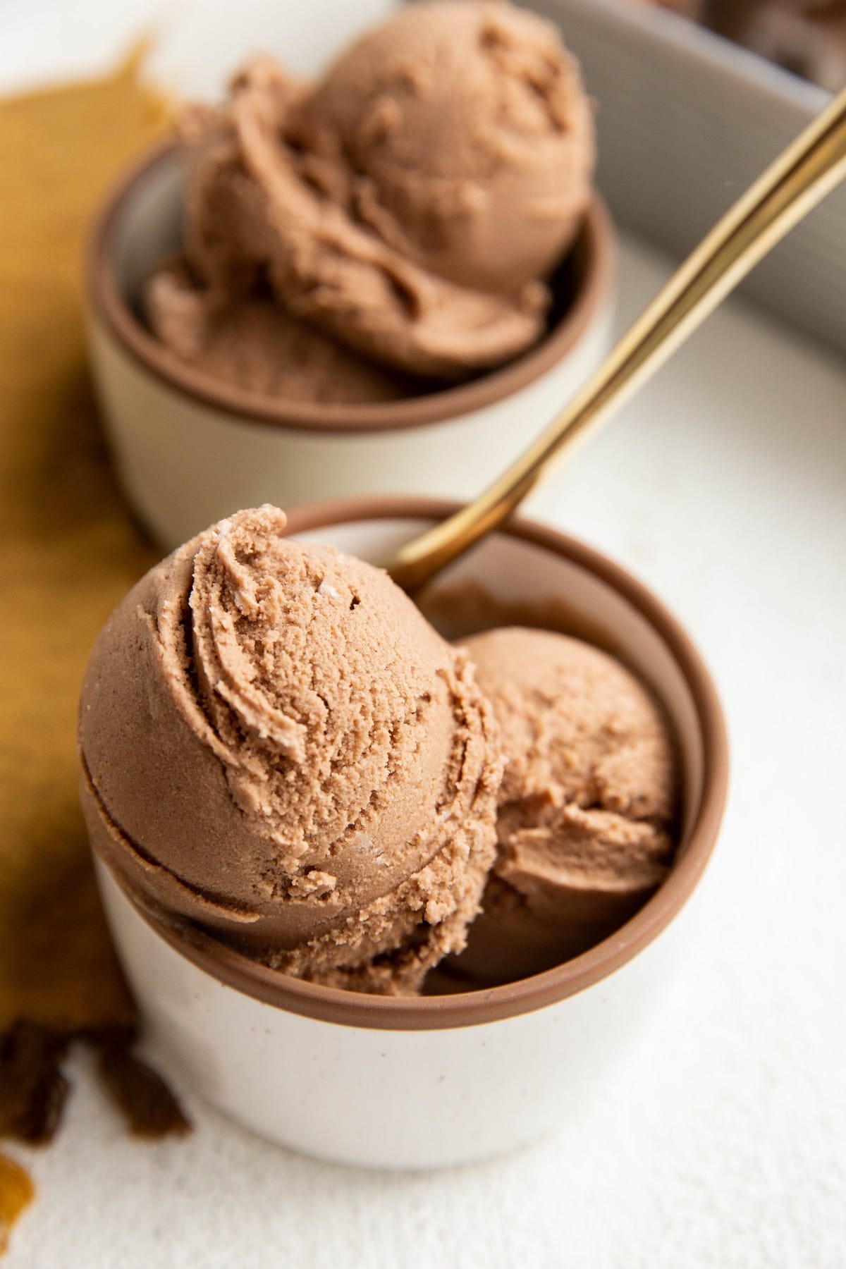
[{"label": "light gray pan side in the corner behind the gold spoon", "polygon": [[[535,0],[597,102],[599,185],[616,221],[686,254],[830,95],[638,0]],[[846,184],[743,293],[846,353]]]}]

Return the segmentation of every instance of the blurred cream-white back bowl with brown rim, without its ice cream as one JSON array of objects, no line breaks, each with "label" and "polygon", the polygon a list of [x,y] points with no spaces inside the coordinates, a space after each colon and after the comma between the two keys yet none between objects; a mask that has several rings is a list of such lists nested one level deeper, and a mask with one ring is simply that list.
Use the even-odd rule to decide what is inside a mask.
[{"label": "blurred cream-white back bowl with brown rim, without its ice cream", "polygon": [[181,363],[137,316],[143,282],[179,247],[181,209],[181,162],[166,146],[107,199],[88,269],[89,344],[109,444],[129,503],[167,549],[265,501],[468,497],[542,430],[609,345],[614,245],[597,199],[553,288],[563,311],[504,369],[372,406],[280,402],[228,387]]}]

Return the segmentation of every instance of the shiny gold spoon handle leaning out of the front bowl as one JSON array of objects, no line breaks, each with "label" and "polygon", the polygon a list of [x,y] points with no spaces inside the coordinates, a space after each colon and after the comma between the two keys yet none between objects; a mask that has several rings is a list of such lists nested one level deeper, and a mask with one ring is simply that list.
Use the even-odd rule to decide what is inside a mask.
[{"label": "shiny gold spoon handle leaning out of the front bowl", "polygon": [[502,476],[473,503],[397,552],[388,563],[393,580],[410,593],[419,590],[500,525],[547,473],[553,458],[619,410],[845,176],[846,90],[726,212],[585,387]]}]

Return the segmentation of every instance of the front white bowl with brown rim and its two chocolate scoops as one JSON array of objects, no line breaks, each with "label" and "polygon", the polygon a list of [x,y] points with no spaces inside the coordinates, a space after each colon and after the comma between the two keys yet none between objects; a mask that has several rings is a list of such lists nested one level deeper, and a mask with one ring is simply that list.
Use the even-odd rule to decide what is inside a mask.
[{"label": "front white bowl with brown rim and its two chocolate scoops", "polygon": [[481,1159],[601,1093],[681,964],[726,794],[705,666],[597,552],[515,520],[422,612],[363,562],[454,509],[212,525],[82,689],[82,806],[162,1063],[344,1162]]}]

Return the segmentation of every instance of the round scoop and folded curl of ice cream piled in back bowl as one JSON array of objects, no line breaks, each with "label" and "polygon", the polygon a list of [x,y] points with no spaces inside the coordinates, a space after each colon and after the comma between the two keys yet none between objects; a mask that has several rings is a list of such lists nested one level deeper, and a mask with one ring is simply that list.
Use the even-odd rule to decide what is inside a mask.
[{"label": "round scoop and folded curl of ice cream piled in back bowl", "polygon": [[[595,157],[556,28],[490,0],[402,8],[315,85],[259,58],[181,132],[205,306],[259,284],[356,354],[440,379],[540,336]],[[151,320],[167,343],[161,305]]]}]

